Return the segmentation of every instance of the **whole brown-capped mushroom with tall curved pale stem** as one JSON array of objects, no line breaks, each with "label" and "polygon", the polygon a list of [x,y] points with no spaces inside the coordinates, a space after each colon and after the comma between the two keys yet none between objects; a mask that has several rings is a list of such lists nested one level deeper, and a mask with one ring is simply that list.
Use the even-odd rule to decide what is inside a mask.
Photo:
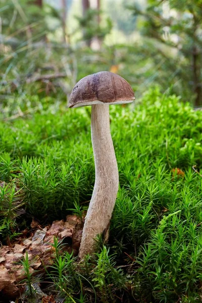
[{"label": "whole brown-capped mushroom with tall curved pale stem", "polygon": [[85,217],[79,259],[95,250],[98,234],[108,240],[110,219],[119,187],[119,173],[110,132],[110,104],[135,99],[130,84],[117,74],[98,72],[82,78],[73,88],[69,108],[92,106],[91,140],[95,163],[95,183]]}]

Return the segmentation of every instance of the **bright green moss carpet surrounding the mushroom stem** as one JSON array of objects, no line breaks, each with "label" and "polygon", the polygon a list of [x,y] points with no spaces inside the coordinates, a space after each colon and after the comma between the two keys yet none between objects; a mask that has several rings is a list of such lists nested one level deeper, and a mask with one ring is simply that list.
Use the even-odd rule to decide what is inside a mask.
[{"label": "bright green moss carpet surrounding the mushroom stem", "polygon": [[[51,222],[75,203],[87,206],[94,183],[89,108],[46,97],[8,120],[17,106],[9,113],[4,106],[0,123],[0,178],[9,182],[1,190],[3,242],[32,216]],[[104,302],[200,300],[202,178],[192,166],[202,167],[201,116],[158,87],[141,104],[111,107],[120,189],[110,241],[81,267],[58,255],[53,280],[67,302],[94,302],[95,293]],[[15,215],[14,185],[23,188],[26,215]]]}]

